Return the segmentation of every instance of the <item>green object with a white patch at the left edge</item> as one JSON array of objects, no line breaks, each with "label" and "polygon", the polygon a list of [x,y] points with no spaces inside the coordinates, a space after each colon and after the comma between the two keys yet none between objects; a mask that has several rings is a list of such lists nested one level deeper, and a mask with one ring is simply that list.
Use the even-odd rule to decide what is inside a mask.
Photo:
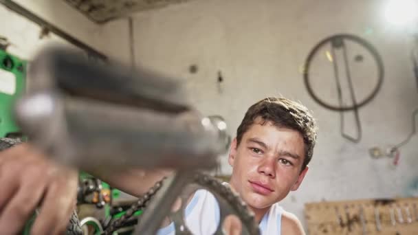
[{"label": "green object with a white patch at the left edge", "polygon": [[12,104],[25,91],[26,65],[25,60],[0,49],[0,137],[22,137],[12,118]]}]

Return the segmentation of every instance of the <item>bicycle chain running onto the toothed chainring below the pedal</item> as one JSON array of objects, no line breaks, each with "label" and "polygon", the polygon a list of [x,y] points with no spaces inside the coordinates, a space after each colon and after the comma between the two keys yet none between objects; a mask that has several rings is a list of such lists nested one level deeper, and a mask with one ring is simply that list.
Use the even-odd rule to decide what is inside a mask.
[{"label": "bicycle chain running onto the toothed chainring below the pedal", "polygon": [[[165,178],[164,178],[165,179]],[[113,231],[121,227],[128,219],[131,218],[134,212],[137,210],[142,210],[146,208],[146,205],[151,201],[156,192],[162,187],[164,181],[158,181],[155,185],[144,194],[144,196],[138,199],[137,203],[133,204],[129,210],[126,211],[120,219],[111,222],[111,225],[107,227],[104,234],[111,234]],[[223,185],[219,179],[215,179],[210,175],[205,175],[202,173],[195,173],[193,181],[189,183],[195,183],[203,188],[207,188],[210,192],[217,192],[225,201],[232,206],[236,212],[236,216],[241,220],[242,225],[247,227],[247,230],[250,234],[260,234],[259,225],[254,220],[254,214],[249,210],[246,203],[242,201],[238,194],[232,192],[229,186]]]}]

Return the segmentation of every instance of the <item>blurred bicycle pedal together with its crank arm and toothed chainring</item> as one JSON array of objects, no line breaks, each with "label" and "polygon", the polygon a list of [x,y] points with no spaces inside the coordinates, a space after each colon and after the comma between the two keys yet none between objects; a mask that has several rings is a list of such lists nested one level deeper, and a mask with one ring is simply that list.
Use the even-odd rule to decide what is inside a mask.
[{"label": "blurred bicycle pedal together with its crank arm and toothed chainring", "polygon": [[[113,216],[101,226],[91,217],[82,219],[82,225],[96,221],[96,231],[113,234],[143,210],[135,234],[155,234],[166,216],[175,218],[176,234],[191,234],[182,215],[188,199],[206,189],[219,204],[215,234],[231,230],[232,223],[226,223],[231,218],[241,221],[241,234],[259,234],[254,214],[239,196],[199,172],[217,166],[217,156],[228,150],[230,137],[222,118],[202,117],[190,106],[180,80],[143,69],[91,65],[61,48],[39,54],[28,76],[31,86],[17,102],[17,120],[30,142],[53,159],[87,172],[177,170],[120,218]],[[91,202],[104,206],[109,192],[101,193],[100,181],[85,182],[80,198],[96,192]],[[179,199],[183,210],[171,212]]]}]

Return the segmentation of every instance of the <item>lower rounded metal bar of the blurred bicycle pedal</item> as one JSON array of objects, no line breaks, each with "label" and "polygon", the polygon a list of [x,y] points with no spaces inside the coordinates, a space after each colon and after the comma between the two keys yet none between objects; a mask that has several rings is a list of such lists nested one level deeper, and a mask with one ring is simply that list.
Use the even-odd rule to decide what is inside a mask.
[{"label": "lower rounded metal bar of the blurred bicycle pedal", "polygon": [[225,151],[221,131],[192,111],[161,113],[43,93],[21,100],[17,113],[35,144],[81,168],[212,168]]}]

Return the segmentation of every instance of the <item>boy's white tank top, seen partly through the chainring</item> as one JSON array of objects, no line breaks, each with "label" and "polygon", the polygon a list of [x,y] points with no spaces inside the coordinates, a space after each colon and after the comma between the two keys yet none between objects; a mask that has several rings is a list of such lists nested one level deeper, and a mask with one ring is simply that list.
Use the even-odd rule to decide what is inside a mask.
[{"label": "boy's white tank top, seen partly through the chainring", "polygon": [[[263,216],[259,224],[262,235],[281,234],[281,219],[283,208],[274,203]],[[186,225],[195,235],[212,235],[219,224],[219,205],[213,194],[207,190],[197,190],[192,200],[186,206]],[[174,223],[158,230],[157,235],[174,235]]]}]

